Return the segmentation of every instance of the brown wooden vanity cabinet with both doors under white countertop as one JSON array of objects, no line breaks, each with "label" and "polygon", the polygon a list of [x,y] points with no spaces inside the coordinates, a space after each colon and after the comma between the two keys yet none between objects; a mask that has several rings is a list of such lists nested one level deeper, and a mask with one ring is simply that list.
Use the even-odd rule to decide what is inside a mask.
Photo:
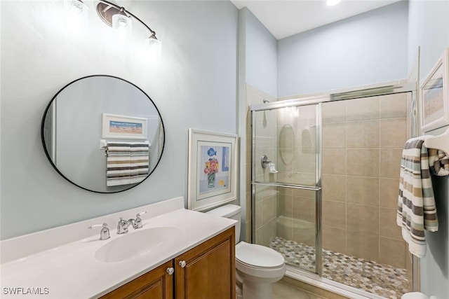
[{"label": "brown wooden vanity cabinet with both doors under white countertop", "polygon": [[234,299],[235,281],[233,226],[100,299]]}]

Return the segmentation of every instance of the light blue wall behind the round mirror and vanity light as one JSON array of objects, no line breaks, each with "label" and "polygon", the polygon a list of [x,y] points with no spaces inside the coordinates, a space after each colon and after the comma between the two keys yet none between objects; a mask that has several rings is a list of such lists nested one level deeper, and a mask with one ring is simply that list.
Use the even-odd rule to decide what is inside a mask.
[{"label": "light blue wall behind the round mirror and vanity light", "polygon": [[[239,11],[230,1],[118,1],[156,30],[158,66],[148,61],[140,39],[119,43],[97,17],[96,1],[85,2],[90,18],[79,32],[67,27],[63,1],[1,1],[1,239],[187,198],[188,128],[236,134]],[[67,83],[91,74],[138,85],[166,128],[159,166],[122,193],[76,188],[55,172],[41,145],[48,102]]]}]

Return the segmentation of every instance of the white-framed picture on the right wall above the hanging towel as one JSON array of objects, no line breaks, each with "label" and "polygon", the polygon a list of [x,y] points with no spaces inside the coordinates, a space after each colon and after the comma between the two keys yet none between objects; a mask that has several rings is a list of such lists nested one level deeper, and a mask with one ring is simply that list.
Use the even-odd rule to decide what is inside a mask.
[{"label": "white-framed picture on the right wall above the hanging towel", "polygon": [[449,50],[446,49],[421,85],[421,132],[449,125]]}]

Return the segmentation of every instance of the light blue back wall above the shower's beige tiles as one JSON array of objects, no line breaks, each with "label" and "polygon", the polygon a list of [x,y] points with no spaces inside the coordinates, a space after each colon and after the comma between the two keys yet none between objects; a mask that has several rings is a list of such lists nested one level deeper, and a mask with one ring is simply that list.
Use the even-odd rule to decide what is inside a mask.
[{"label": "light blue back wall above the shower's beige tiles", "polygon": [[407,77],[408,2],[279,40],[278,97]]}]

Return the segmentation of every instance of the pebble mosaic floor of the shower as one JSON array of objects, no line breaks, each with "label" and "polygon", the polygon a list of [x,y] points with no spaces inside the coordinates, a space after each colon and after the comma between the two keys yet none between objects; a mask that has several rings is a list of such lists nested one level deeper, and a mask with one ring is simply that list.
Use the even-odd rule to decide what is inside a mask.
[{"label": "pebble mosaic floor of the shower", "polygon": [[[315,272],[314,247],[281,237],[275,237],[270,247],[281,253],[288,265]],[[324,249],[323,277],[389,299],[399,299],[408,292],[406,269]]]}]

